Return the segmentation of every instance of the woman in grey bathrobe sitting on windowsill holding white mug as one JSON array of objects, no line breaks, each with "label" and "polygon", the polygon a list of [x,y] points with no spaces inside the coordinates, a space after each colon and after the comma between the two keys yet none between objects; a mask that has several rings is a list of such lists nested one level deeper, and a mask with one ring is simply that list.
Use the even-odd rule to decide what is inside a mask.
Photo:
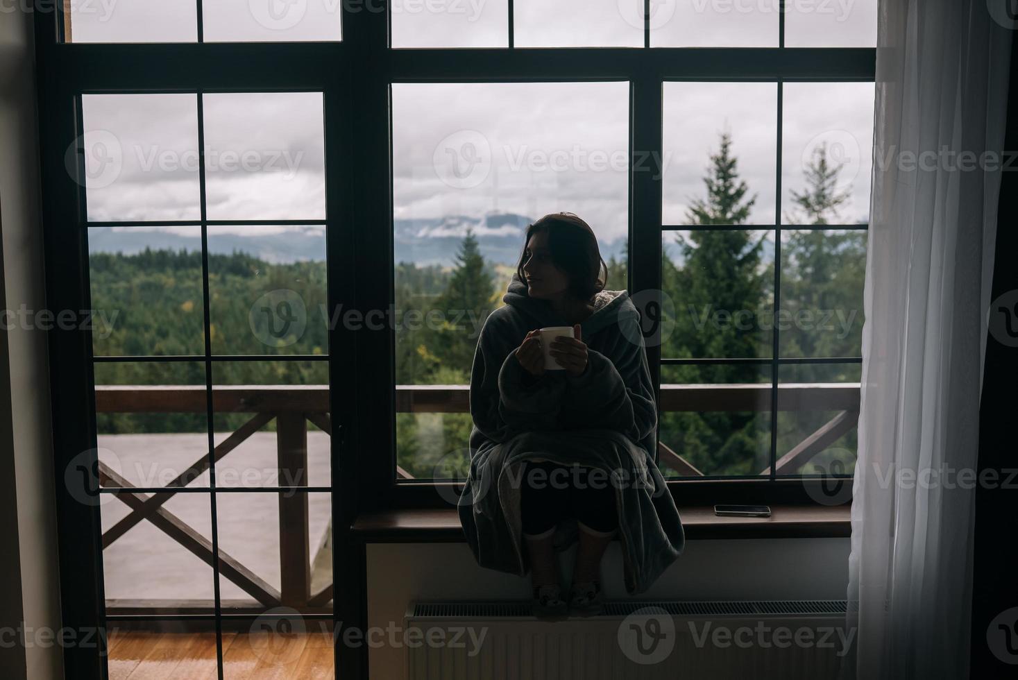
[{"label": "woman in grey bathrobe sitting on windowsill holding white mug", "polygon": [[[529,567],[539,616],[600,611],[601,559],[615,535],[630,594],[646,590],[684,543],[654,462],[658,409],[639,314],[624,290],[604,290],[602,267],[607,278],[580,218],[531,224],[506,305],[486,320],[473,357],[460,522],[480,566],[520,575]],[[573,328],[549,348],[560,370],[545,367],[536,333],[551,326]],[[555,553],[574,541],[564,596]]]}]

